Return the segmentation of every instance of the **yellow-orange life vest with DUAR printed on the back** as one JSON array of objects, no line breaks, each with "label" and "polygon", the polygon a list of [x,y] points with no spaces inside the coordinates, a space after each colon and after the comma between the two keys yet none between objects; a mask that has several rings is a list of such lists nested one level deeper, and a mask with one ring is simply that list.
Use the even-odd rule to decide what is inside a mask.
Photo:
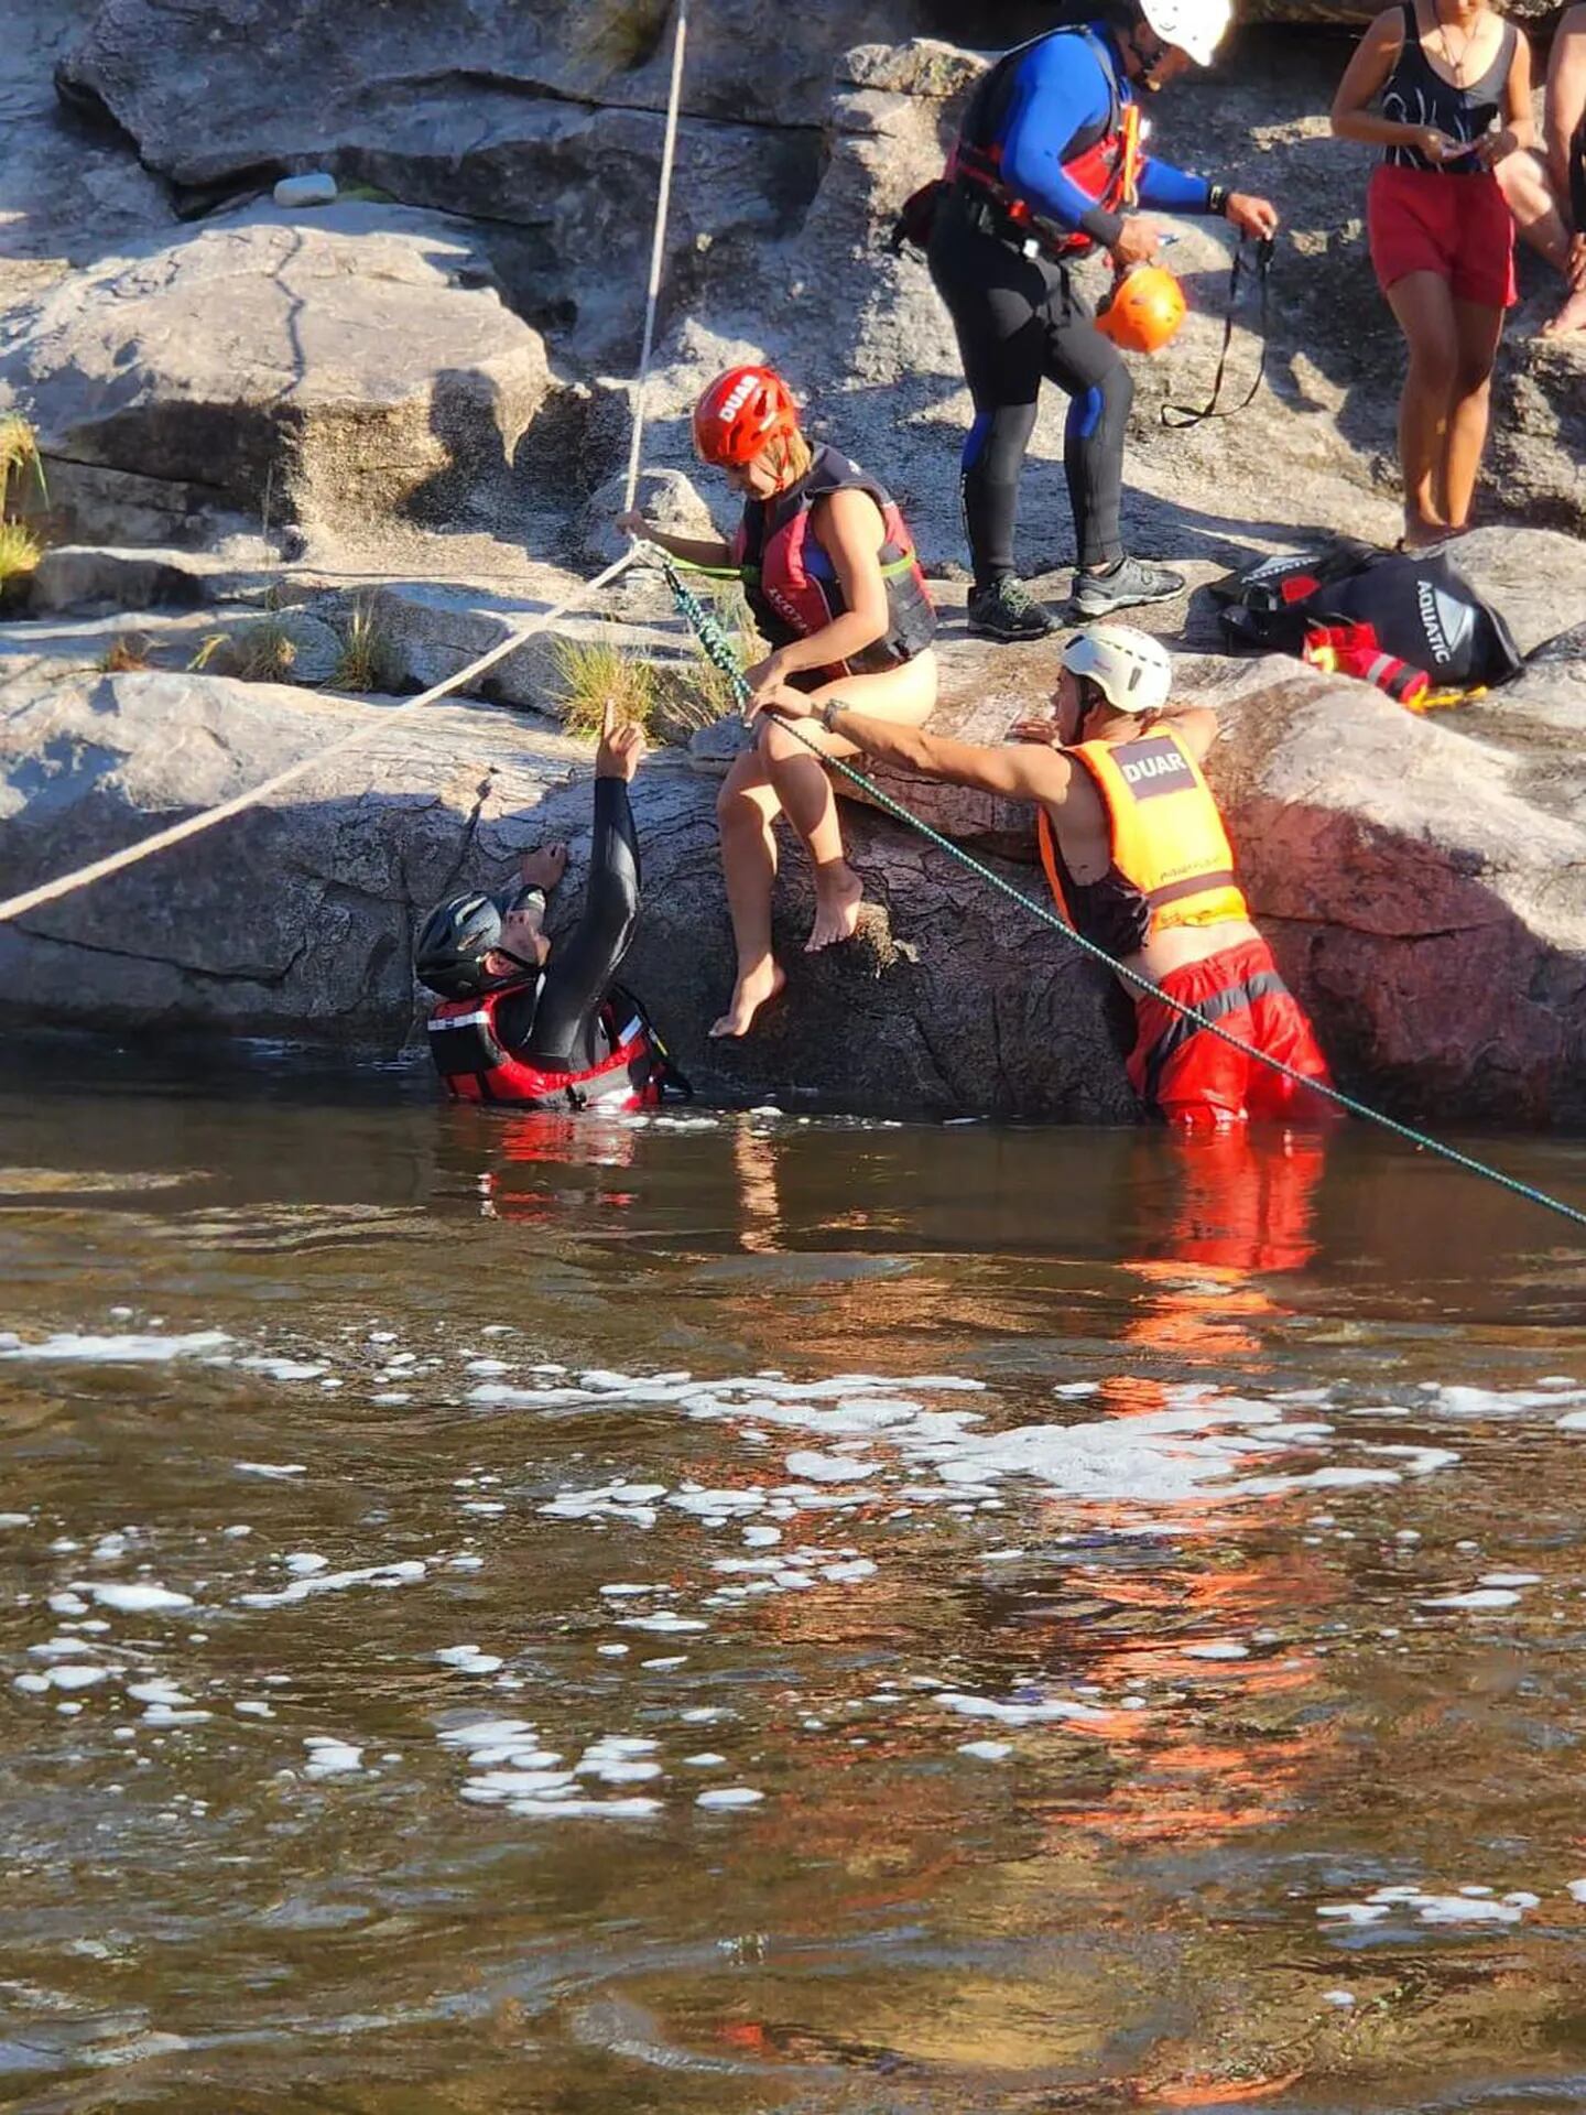
[{"label": "yellow-orange life vest with DUAR printed on the back", "polygon": [[1250,918],[1218,804],[1172,728],[1159,725],[1133,742],[1081,742],[1064,755],[1089,772],[1112,840],[1110,871],[1081,890],[1064,869],[1047,810],[1038,810],[1040,863],[1070,924],[1078,924],[1070,895],[1091,893],[1138,912],[1138,948],[1172,926]]}]

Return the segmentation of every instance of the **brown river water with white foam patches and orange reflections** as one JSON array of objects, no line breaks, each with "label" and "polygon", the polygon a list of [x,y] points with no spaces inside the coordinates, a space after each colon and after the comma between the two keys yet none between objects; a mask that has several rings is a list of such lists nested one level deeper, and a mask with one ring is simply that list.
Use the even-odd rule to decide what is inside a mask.
[{"label": "brown river water with white foam patches and orange reflections", "polygon": [[1586,2104],[1563,1220],[51,1051],[0,1282],[0,2104]]}]

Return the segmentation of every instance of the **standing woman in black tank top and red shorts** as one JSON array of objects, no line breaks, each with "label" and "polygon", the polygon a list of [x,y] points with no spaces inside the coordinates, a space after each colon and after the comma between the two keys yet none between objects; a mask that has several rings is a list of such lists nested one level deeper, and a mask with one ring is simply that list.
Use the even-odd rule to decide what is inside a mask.
[{"label": "standing woman in black tank top and red shorts", "polygon": [[1398,417],[1404,546],[1423,548],[1470,525],[1514,302],[1514,218],[1495,171],[1529,159],[1531,49],[1484,0],[1402,0],[1362,36],[1332,131],[1383,148],[1366,228],[1410,349]]}]

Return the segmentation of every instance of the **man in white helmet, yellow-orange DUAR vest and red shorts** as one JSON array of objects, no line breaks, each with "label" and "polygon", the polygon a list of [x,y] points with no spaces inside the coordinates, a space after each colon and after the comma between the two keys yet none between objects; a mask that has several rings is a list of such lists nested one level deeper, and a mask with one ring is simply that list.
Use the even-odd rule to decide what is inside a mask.
[{"label": "man in white helmet, yellow-orange DUAR vest and red shorts", "polygon": [[[865,755],[926,778],[1036,802],[1040,857],[1057,907],[1125,969],[1237,1038],[1131,990],[1129,1081],[1169,1121],[1315,1121],[1326,1104],[1248,1051],[1328,1083],[1311,1024],[1284,986],[1233,878],[1233,852],[1201,759],[1216,738],[1205,706],[1169,709],[1174,664],[1148,632],[1095,624],[1062,651],[1053,717],[1013,730],[1007,749],[820,711]],[[768,709],[812,711],[797,692]]]}]

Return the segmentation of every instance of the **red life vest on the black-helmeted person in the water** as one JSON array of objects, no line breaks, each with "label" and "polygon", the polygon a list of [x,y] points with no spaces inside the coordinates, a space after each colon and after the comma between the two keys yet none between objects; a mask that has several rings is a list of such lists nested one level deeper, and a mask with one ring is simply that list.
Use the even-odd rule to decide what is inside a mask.
[{"label": "red life vest on the black-helmeted person in the water", "polygon": [[590,1108],[626,1112],[656,1108],[666,1089],[687,1098],[687,1081],[672,1068],[662,1038],[637,998],[615,992],[601,1009],[611,1055],[586,1072],[541,1072],[514,1058],[495,1017],[505,998],[522,992],[503,983],[480,998],[453,998],[429,1015],[429,1055],[459,1102],[505,1102],[514,1108]]}]

